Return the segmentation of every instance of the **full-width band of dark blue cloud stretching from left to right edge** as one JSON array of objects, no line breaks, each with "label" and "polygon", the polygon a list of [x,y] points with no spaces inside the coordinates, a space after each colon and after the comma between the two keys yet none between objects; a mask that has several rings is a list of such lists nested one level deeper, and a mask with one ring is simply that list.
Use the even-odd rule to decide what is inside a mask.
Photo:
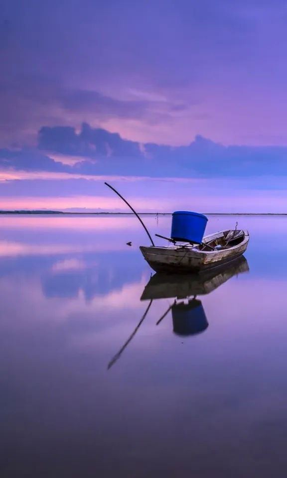
[{"label": "full-width band of dark blue cloud stretching from left to right edge", "polygon": [[197,135],[189,145],[171,147],[131,141],[83,123],[79,131],[71,126],[43,126],[38,149],[1,149],[0,178],[15,179],[15,171],[37,172],[34,179],[44,179],[39,175],[44,171],[50,173],[46,179],[52,179],[52,173],[59,173],[59,179],[70,175],[86,179],[286,176],[286,159],[286,146],[225,146]]}]

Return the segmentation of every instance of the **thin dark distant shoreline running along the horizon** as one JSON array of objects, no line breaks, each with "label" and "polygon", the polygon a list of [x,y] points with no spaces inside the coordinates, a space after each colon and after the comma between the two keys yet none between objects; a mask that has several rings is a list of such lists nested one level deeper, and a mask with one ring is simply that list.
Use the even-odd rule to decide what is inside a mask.
[{"label": "thin dark distant shoreline running along the horizon", "polygon": [[[134,216],[134,213],[97,212],[97,213],[73,213],[63,211],[0,211],[0,214],[10,215],[46,215],[46,216]],[[140,216],[171,216],[172,213],[138,213]],[[287,213],[203,213],[206,216],[287,216]]]}]

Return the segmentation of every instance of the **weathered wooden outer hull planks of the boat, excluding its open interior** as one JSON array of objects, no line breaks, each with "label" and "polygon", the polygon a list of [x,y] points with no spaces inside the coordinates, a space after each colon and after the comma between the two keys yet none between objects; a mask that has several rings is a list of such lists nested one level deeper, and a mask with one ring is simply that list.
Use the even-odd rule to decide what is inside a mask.
[{"label": "weathered wooden outer hull planks of the boat, excluding its open interior", "polygon": [[[248,231],[243,231],[243,240],[233,247],[222,250],[199,250],[192,246],[140,246],[144,259],[155,272],[202,273],[221,267],[241,257],[249,242]],[[203,242],[221,237],[225,231],[206,236]]]}]

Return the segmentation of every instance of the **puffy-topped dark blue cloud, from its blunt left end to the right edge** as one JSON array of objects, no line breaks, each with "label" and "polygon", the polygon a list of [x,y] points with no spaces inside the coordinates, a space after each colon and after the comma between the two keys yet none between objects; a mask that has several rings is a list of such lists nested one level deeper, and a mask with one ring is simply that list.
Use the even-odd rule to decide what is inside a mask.
[{"label": "puffy-topped dark blue cloud, from its blunt left end to the right edge", "polygon": [[109,170],[124,175],[210,177],[287,172],[287,147],[224,146],[200,135],[187,146],[141,144],[87,123],[82,124],[79,133],[71,127],[43,127],[38,146],[95,159],[97,163],[84,161],[78,165],[79,171],[87,174]]}]

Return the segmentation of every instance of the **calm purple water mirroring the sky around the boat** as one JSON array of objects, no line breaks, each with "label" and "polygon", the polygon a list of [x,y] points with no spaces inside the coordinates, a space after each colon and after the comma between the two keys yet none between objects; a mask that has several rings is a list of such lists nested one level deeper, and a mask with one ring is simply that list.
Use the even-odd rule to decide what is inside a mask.
[{"label": "calm purple water mirroring the sky around the boat", "polygon": [[137,219],[1,218],[1,477],[285,477],[287,220],[207,233],[236,221],[249,272],[197,297],[207,328],[153,300],[117,355],[149,304]]}]

